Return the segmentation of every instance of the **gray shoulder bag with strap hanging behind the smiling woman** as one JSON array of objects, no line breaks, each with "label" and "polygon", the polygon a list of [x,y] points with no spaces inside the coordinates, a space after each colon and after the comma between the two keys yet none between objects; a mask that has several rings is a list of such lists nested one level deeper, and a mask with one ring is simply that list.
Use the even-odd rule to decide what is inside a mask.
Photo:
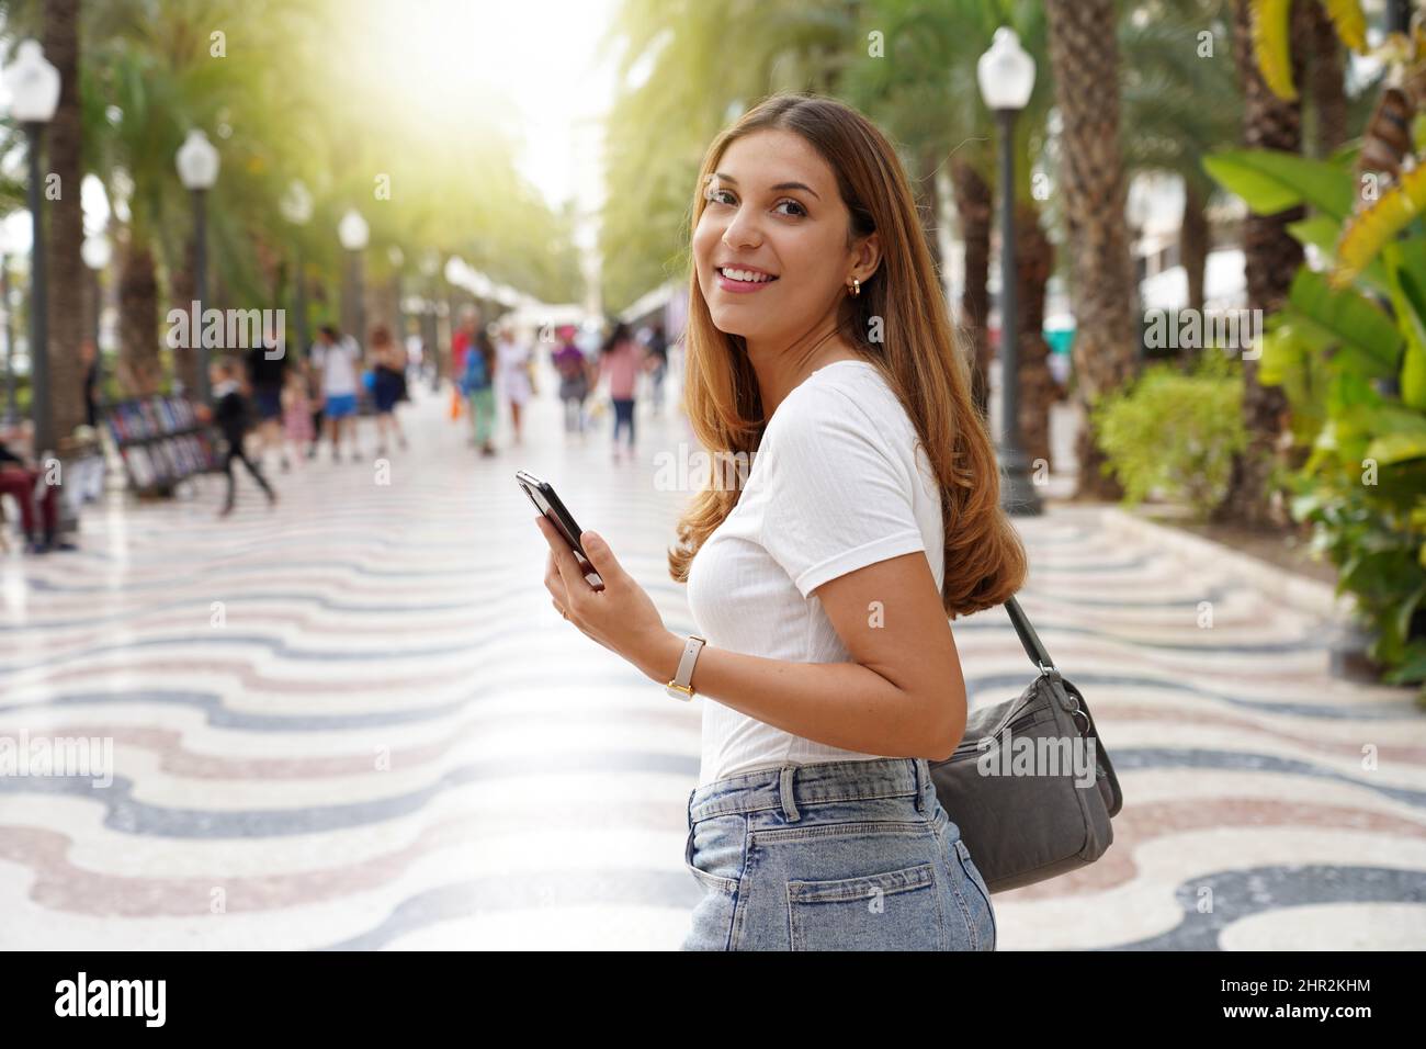
[{"label": "gray shoulder bag with strap hanging behind the smiling woman", "polygon": [[1084,695],[1014,598],[1005,611],[1040,675],[1015,699],[971,711],[955,754],[930,762],[935,796],[991,892],[1092,863],[1124,804]]}]

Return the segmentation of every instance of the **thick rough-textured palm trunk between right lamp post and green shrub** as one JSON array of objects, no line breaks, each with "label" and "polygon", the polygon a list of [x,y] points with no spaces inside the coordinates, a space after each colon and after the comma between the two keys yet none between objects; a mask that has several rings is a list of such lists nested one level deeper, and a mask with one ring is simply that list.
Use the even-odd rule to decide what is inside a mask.
[{"label": "thick rough-textured palm trunk between right lamp post and green shrub", "polygon": [[[1060,188],[1074,245],[1075,374],[1091,404],[1134,373],[1137,325],[1125,180],[1119,147],[1119,51],[1114,0],[1047,0],[1050,63],[1064,120]],[[1079,494],[1118,497],[1087,422],[1079,437]]]}]

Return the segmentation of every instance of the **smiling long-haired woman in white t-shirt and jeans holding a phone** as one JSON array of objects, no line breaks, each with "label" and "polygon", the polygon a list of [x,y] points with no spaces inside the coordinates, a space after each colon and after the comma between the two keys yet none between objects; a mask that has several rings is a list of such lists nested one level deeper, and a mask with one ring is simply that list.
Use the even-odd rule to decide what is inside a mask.
[{"label": "smiling long-haired woman in white t-shirt and jeans holding a phone", "polygon": [[948,617],[1014,595],[1025,555],[906,173],[856,110],[767,98],[709,148],[693,263],[689,420],[714,461],[753,455],[669,552],[700,635],[586,531],[592,589],[540,518],[556,608],[706,696],[683,946],[992,951],[927,762],[965,732]]}]

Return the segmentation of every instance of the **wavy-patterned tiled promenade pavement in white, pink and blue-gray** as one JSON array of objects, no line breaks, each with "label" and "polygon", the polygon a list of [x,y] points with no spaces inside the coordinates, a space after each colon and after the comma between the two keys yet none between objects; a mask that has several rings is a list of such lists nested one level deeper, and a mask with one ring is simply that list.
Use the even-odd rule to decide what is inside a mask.
[{"label": "wavy-patterned tiled promenade pavement in white, pink and blue-gray", "polygon": [[[481,460],[442,407],[408,412],[389,484],[302,464],[220,522],[210,481],[93,511],[83,552],[0,558],[0,736],[114,741],[107,788],[0,776],[0,948],[677,946],[703,701],[559,618],[512,474],[555,481],[686,631],[684,495],[653,457],[693,438],[642,408],[615,465],[539,401]],[[1320,621],[1094,508],[1021,528],[1022,605],[1125,806],[1101,862],[995,896],[1001,949],[1426,946],[1409,696],[1329,678]],[[1030,679],[1000,611],[954,631],[973,702]]]}]

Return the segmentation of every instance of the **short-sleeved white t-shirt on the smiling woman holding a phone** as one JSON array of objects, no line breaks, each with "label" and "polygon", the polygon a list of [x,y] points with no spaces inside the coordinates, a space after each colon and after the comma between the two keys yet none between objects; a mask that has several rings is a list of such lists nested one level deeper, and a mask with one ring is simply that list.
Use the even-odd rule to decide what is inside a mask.
[{"label": "short-sleeved white t-shirt on the smiling woman holding a phone", "polygon": [[[834,361],[777,405],[737,505],[689,567],[687,599],[714,648],[847,662],[817,587],[901,554],[944,579],[941,492],[915,427],[876,365]],[[703,698],[699,785],[756,768],[884,755],[843,751]]]}]

